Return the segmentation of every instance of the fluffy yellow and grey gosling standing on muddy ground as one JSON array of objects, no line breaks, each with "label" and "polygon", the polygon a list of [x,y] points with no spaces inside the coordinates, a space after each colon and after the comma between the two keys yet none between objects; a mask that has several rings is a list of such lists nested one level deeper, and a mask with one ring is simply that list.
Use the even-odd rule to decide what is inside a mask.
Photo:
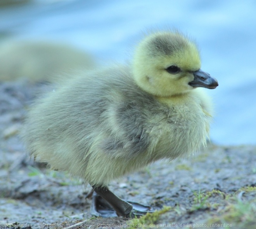
[{"label": "fluffy yellow and grey gosling standing on muddy ground", "polygon": [[131,65],[81,73],[38,99],[24,126],[27,148],[52,169],[83,178],[118,216],[140,215],[107,185],[206,145],[212,105],[198,88],[218,82],[200,68],[192,40],[178,32],[150,34]]}]

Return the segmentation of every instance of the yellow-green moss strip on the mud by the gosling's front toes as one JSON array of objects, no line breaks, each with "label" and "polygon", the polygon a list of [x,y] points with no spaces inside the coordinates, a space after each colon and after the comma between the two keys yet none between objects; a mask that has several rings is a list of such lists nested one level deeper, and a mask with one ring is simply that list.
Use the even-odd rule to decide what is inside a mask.
[{"label": "yellow-green moss strip on the mud by the gosling's front toes", "polygon": [[129,228],[135,229],[135,228],[147,228],[150,224],[155,224],[157,220],[159,220],[159,217],[170,211],[171,207],[164,206],[163,209],[158,210],[156,212],[147,213],[146,215],[143,215],[140,218],[135,218],[129,220],[127,223],[130,225]]}]

